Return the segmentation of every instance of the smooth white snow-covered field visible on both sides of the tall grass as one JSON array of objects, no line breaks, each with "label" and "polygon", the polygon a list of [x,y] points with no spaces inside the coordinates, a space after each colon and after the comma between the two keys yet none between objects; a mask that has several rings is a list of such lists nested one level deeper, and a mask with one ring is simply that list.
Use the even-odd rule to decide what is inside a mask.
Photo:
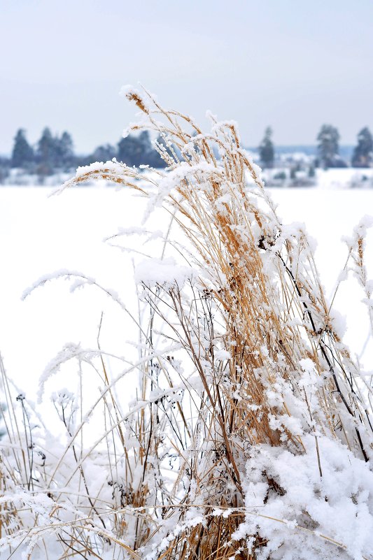
[{"label": "smooth white snow-covered field visible on both sides of the tall grass", "polygon": [[[103,240],[118,227],[139,225],[143,201],[124,189],[104,187],[70,189],[51,197],[50,192],[45,187],[0,189],[0,351],[8,374],[29,397],[35,396],[38,377],[65,343],[97,347],[102,310],[101,345],[106,350],[121,354],[123,341],[133,336],[122,310],[94,287],[71,294],[69,283],[56,280],[21,301],[22,292],[38,278],[66,269],[82,272],[118,292],[136,313],[132,256]],[[373,215],[373,191],[272,189],[272,196],[284,222],[304,222],[316,238],[316,262],[331,296],[346,259],[341,237],[349,236],[363,215]],[[152,226],[164,224],[155,216]],[[370,241],[367,265],[373,272]],[[147,252],[138,237],[127,244]],[[335,301],[348,315],[347,340],[358,354],[368,328],[362,298],[351,279],[342,283]],[[364,366],[371,368],[367,357]]]}]

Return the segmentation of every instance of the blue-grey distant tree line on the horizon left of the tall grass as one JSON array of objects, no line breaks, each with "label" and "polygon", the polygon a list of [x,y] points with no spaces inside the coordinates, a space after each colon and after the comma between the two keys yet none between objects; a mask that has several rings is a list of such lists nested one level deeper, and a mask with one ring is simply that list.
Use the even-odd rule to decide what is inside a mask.
[{"label": "blue-grey distant tree line on the horizon left of the tall grass", "polygon": [[105,144],[98,146],[92,154],[78,156],[73,149],[73,139],[69,132],[60,136],[53,135],[48,127],[43,129],[41,138],[32,146],[27,141],[26,131],[19,129],[14,138],[12,155],[9,161],[2,158],[1,164],[11,168],[21,168],[27,173],[36,173],[43,177],[56,171],[71,171],[79,165],[87,165],[94,161],[108,161],[115,157],[128,166],[149,165],[155,168],[164,167],[164,161],[153,148],[148,131],[139,135],[130,134],[121,138],[117,145]]}]

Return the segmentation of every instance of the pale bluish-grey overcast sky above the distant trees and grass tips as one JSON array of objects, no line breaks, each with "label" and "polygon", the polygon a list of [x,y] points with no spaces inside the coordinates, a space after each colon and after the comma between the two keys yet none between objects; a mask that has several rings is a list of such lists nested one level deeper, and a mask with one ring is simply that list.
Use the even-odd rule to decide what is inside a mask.
[{"label": "pale bluish-grey overcast sky above the distant trees and grass tips", "polygon": [[373,129],[372,0],[0,0],[0,153],[15,131],[68,130],[78,152],[115,143],[142,82],[204,124],[239,122],[246,145],[342,143]]}]

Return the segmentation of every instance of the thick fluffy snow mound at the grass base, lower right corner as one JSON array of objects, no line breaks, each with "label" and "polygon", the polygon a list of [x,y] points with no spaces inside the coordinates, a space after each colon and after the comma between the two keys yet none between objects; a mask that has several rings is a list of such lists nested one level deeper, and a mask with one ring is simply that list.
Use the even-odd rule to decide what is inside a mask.
[{"label": "thick fluffy snow mound at the grass base, lower right corner", "polygon": [[259,533],[267,540],[255,551],[258,560],[369,558],[373,550],[369,466],[337,440],[318,437],[317,448],[316,438],[307,435],[302,444],[304,454],[269,445],[253,450],[244,480],[246,520],[235,538]]}]

